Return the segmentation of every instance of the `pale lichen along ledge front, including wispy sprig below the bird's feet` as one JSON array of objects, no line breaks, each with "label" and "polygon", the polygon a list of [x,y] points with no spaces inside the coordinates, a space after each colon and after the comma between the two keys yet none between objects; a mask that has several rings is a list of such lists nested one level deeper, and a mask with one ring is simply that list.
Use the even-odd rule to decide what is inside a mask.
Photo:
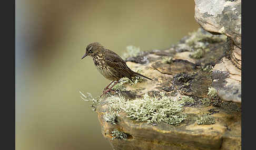
[{"label": "pale lichen along ledge front, including wispy sprig below the bird's feet", "polygon": [[[161,97],[149,97],[146,92],[143,98],[129,100],[123,97],[120,92],[116,92],[116,95],[110,95],[106,98],[109,114],[105,114],[104,119],[106,122],[115,124],[117,115],[122,111],[130,119],[140,122],[165,122],[170,125],[179,125],[186,118],[186,115],[182,114],[184,102],[172,100],[170,97],[166,97],[164,93],[160,94]],[[82,95],[85,97],[84,94]],[[92,98],[90,93],[89,95],[90,98],[81,98],[92,101],[95,106],[102,101]]]}]

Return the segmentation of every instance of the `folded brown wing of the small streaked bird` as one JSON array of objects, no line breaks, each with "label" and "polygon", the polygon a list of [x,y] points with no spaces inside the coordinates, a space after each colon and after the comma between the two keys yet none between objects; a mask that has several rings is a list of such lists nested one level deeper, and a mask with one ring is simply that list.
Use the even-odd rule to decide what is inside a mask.
[{"label": "folded brown wing of the small streaked bird", "polygon": [[115,69],[124,77],[127,77],[130,80],[132,80],[131,77],[133,71],[129,67],[127,67],[125,61],[115,53],[109,53],[108,55],[106,55],[105,62],[107,63],[107,65]]}]

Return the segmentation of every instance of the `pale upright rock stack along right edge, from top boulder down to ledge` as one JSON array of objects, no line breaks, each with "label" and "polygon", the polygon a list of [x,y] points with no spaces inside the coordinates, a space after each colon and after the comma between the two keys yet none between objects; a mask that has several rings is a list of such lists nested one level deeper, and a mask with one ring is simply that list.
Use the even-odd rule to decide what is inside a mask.
[{"label": "pale upright rock stack along right edge, from top boulder down to ledge", "polygon": [[[225,57],[214,67],[213,87],[224,101],[241,103],[241,0],[195,0],[195,20],[213,34],[224,34]],[[225,79],[218,74],[226,74]],[[220,81],[222,83],[220,83]]]}]

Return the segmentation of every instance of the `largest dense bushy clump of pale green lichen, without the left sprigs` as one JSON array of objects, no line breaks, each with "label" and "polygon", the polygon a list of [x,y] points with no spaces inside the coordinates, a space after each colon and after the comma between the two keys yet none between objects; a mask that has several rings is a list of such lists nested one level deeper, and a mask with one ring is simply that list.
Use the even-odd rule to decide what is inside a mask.
[{"label": "largest dense bushy clump of pale green lichen, without the left sprigs", "polygon": [[165,122],[171,125],[178,125],[185,120],[181,112],[182,101],[175,101],[162,95],[162,97],[149,97],[147,92],[142,99],[126,101],[122,110],[132,120],[153,123]]}]

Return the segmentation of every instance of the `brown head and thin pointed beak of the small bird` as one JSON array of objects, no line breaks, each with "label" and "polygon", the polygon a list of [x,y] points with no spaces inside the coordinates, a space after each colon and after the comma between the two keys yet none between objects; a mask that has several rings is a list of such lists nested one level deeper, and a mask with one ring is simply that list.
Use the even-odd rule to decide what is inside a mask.
[{"label": "brown head and thin pointed beak of the small bird", "polygon": [[93,42],[89,44],[85,49],[85,55],[81,58],[85,58],[86,56],[94,57],[102,50],[103,46],[99,42]]}]

